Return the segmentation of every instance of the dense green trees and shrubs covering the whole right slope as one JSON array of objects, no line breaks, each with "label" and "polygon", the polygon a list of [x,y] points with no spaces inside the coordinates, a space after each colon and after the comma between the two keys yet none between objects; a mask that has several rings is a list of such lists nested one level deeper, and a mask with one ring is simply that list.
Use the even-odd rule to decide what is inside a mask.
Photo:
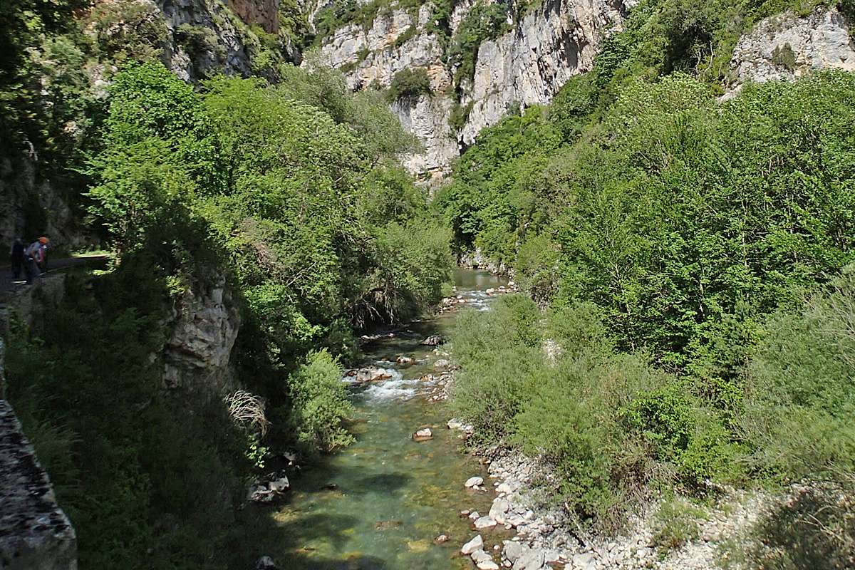
[{"label": "dense green trees and shrubs covering the whole right slope", "polygon": [[[716,98],[740,32],[785,8],[640,4],[591,73],[481,132],[437,197],[459,250],[536,301],[461,321],[457,408],[482,444],[550,461],[601,529],[659,491],[852,491],[855,76]],[[828,497],[811,500],[833,531],[758,530],[800,545],[780,567],[852,563],[852,510]]]}]

